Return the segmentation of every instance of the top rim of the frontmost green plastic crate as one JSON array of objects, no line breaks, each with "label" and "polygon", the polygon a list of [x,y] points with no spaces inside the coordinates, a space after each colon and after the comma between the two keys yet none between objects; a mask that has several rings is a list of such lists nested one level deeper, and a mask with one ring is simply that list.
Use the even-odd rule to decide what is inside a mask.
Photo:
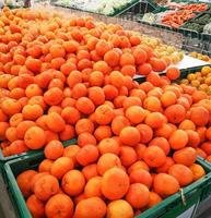
[{"label": "top rim of the frontmost green plastic crate", "polygon": [[[24,160],[31,160],[31,159],[43,159],[44,158],[44,154],[36,154],[34,156],[26,156],[23,158],[17,158],[14,160],[11,160],[9,162],[7,162],[4,165],[4,171],[5,171],[5,177],[7,177],[7,184],[10,186],[11,192],[12,192],[12,203],[14,208],[16,209],[16,213],[21,213],[21,214],[25,214],[23,218],[31,218],[31,214],[30,210],[27,209],[27,206],[25,204],[25,199],[17,186],[15,177],[12,172],[12,169],[10,167],[11,164],[19,164],[19,161],[24,161]],[[184,196],[186,196],[186,194],[188,194],[190,191],[202,186],[204,183],[207,183],[208,181],[210,181],[211,179],[211,165],[209,165],[207,161],[203,161],[203,159],[201,158],[197,158],[197,162],[200,164],[203,168],[206,168],[206,171],[208,171],[208,173],[201,178],[200,180],[194,182],[192,184],[186,186],[183,189],[184,191]],[[148,210],[145,210],[144,213],[142,213],[140,216],[138,216],[137,218],[148,218],[150,215],[152,215],[152,213],[159,211],[160,209],[166,207],[167,205],[169,205],[171,203],[173,203],[174,201],[178,201],[179,198],[181,198],[181,194],[180,193],[176,193],[169,197],[167,197],[166,199],[162,201],[162,203],[157,204],[156,206],[154,206],[153,208],[150,208]],[[17,208],[16,208],[17,207]],[[17,214],[19,214],[17,213]],[[20,216],[20,214],[19,214]]]}]

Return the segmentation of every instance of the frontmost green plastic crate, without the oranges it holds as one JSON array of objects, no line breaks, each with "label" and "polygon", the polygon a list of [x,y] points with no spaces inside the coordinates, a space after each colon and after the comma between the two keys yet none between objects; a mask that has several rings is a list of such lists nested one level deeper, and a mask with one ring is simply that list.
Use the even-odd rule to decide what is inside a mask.
[{"label": "frontmost green plastic crate, without the oranges it holds", "polygon": [[[17,186],[15,178],[24,170],[36,169],[43,159],[43,154],[36,154],[34,156],[25,156],[11,160],[4,165],[5,183],[8,184],[9,195],[16,215],[20,218],[32,218],[32,216],[26,207],[25,199]],[[138,218],[179,218],[181,215],[185,215],[185,217],[192,217],[201,201],[202,194],[207,191],[208,185],[210,185],[209,181],[211,181],[211,166],[200,158],[197,161],[204,168],[207,174],[197,182],[183,189],[183,199],[181,192],[176,193],[153,208],[145,210],[138,216]],[[190,216],[186,216],[187,214],[184,213],[188,213]]]}]

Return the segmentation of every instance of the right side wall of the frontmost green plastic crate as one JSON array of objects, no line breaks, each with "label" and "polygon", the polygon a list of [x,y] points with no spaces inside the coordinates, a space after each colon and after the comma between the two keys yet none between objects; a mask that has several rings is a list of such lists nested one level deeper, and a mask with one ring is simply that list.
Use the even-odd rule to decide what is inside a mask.
[{"label": "right side wall of the frontmost green plastic crate", "polygon": [[210,189],[211,165],[197,159],[207,174],[192,184],[184,187],[180,193],[176,193],[151,209],[145,210],[137,218],[190,218],[195,217],[198,205],[201,203],[203,193]]}]

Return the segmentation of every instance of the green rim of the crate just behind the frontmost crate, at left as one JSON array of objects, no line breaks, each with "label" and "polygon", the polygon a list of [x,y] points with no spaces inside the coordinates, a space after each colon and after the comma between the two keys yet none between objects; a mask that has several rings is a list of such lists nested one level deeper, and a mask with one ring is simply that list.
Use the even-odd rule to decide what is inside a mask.
[{"label": "green rim of the crate just behind the frontmost crate, at left", "polygon": [[[75,138],[62,142],[65,147],[67,147],[68,145],[73,145],[75,143],[77,143]],[[40,153],[43,154],[43,150],[44,149],[28,150],[27,153],[22,153],[20,155],[12,155],[12,156],[4,157],[3,154],[2,154],[2,150],[0,149],[0,173],[2,173],[3,166],[4,166],[5,162],[13,160],[13,159],[16,159],[16,158],[24,158],[26,156],[31,157],[31,156],[34,156],[34,155],[40,154]]]}]

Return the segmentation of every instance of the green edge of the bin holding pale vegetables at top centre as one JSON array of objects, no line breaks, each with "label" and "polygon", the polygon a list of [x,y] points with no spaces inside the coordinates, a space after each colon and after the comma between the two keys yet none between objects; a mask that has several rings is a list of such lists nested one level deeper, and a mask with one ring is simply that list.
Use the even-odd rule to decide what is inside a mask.
[{"label": "green edge of the bin holding pale vegetables at top centre", "polygon": [[82,11],[82,12],[87,12],[87,13],[93,13],[93,14],[101,14],[101,15],[107,15],[107,16],[119,16],[119,15],[130,11],[132,8],[137,7],[137,4],[140,3],[140,1],[139,0],[133,0],[130,3],[126,4],[125,7],[122,7],[121,10],[115,10],[115,12],[112,13],[112,14],[103,14],[103,13],[97,13],[97,12],[80,9],[80,8],[77,8],[77,7],[74,8],[74,7],[70,7],[70,5],[63,5],[63,4],[59,4],[59,3],[55,2],[55,1],[51,1],[50,3],[51,3],[51,5],[55,5],[55,7],[61,7],[61,8],[72,9],[72,10],[79,10],[79,11]]}]

